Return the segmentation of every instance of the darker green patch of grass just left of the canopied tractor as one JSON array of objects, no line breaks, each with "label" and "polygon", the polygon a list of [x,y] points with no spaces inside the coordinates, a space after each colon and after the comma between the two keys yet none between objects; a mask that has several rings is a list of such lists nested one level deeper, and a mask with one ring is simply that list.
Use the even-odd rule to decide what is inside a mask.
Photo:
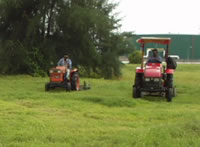
[{"label": "darker green patch of grass just left of the canopied tractor", "polygon": [[133,107],[136,105],[132,99],[87,97],[79,100],[104,105],[107,107]]}]

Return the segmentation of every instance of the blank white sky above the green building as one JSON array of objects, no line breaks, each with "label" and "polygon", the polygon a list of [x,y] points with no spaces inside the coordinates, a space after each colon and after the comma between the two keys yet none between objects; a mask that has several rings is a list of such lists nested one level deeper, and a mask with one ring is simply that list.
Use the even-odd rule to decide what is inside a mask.
[{"label": "blank white sky above the green building", "polygon": [[112,0],[119,2],[123,31],[136,34],[200,34],[200,0]]}]

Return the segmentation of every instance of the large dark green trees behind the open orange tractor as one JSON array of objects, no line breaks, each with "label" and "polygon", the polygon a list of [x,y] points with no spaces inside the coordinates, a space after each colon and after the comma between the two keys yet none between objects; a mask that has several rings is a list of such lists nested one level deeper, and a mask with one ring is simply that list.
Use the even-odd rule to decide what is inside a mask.
[{"label": "large dark green trees behind the open orange tractor", "polygon": [[108,0],[1,0],[0,71],[44,74],[64,54],[105,78],[120,75],[123,36]]}]

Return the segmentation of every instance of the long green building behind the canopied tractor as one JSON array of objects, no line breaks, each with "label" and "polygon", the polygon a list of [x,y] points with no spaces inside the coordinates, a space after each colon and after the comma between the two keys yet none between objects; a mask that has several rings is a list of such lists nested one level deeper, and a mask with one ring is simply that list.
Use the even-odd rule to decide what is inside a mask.
[{"label": "long green building behind the canopied tractor", "polygon": [[[167,37],[171,38],[170,55],[178,55],[181,60],[200,60],[200,35],[182,34],[148,34],[136,35],[134,41],[140,37]],[[140,48],[139,43],[135,43],[136,48]],[[146,47],[159,48],[163,45],[147,44]]]}]

